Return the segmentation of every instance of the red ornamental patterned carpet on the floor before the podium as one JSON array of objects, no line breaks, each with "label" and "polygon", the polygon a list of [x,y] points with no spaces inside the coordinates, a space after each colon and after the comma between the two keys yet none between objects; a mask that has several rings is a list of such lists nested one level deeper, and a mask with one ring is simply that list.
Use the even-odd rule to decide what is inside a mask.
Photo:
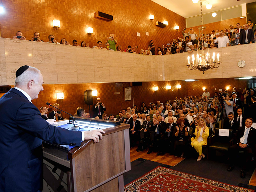
[{"label": "red ornamental patterned carpet on the floor before the podium", "polygon": [[218,181],[156,167],[139,179],[124,187],[125,192],[252,192],[251,189],[236,187]]}]

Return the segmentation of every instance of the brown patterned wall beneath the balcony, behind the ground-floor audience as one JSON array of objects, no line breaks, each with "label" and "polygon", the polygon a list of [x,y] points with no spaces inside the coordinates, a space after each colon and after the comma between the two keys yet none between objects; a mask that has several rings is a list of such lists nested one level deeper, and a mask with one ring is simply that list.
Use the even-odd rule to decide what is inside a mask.
[{"label": "brown patterned wall beneath the balcony, behind the ground-floor audience", "polygon": [[[181,89],[177,89],[176,85],[181,84]],[[171,85],[172,90],[167,90],[166,86]],[[132,98],[134,105],[140,106],[142,102],[148,105],[149,102],[160,100],[166,102],[175,97],[184,97],[187,95],[199,96],[204,91],[205,86],[212,94],[226,86],[231,85],[230,89],[235,86],[238,91],[242,91],[247,87],[247,80],[234,80],[234,78],[223,79],[204,79],[196,82],[185,81],[159,81],[159,82],[142,82],[142,86],[132,86]],[[68,111],[72,115],[76,112],[77,107],[82,107],[89,112],[89,107],[84,103],[84,91],[87,89],[98,90],[98,96],[102,103],[106,106],[106,113],[118,114],[118,112],[127,107],[133,106],[133,100],[124,101],[124,87],[129,87],[130,83],[93,83],[93,84],[48,84],[44,85],[44,91],[40,92],[38,99],[33,100],[33,103],[38,109],[41,106],[46,106],[46,102],[51,104],[57,102],[60,108]],[[159,91],[154,91],[154,86],[159,87]],[[214,90],[216,88],[216,90]],[[56,100],[56,93],[64,92],[63,100]],[[114,95],[114,92],[120,92],[120,95]],[[4,94],[0,94],[2,97]],[[96,98],[93,97],[93,103],[96,104]],[[92,111],[92,106],[91,106]],[[64,115],[68,118],[68,115]]]}]

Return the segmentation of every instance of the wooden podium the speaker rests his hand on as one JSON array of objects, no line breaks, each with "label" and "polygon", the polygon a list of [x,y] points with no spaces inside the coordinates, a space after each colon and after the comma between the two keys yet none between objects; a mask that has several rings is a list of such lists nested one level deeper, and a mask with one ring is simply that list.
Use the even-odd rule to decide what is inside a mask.
[{"label": "wooden podium the speaker rests his hand on", "polygon": [[65,155],[64,158],[54,155],[60,152],[58,148],[52,151],[46,145],[44,159],[66,167],[70,165],[67,172],[68,192],[124,191],[123,174],[131,170],[129,127],[128,124],[120,124],[104,129],[106,133],[99,143],[84,140],[80,147],[68,151],[68,160],[65,160]]}]

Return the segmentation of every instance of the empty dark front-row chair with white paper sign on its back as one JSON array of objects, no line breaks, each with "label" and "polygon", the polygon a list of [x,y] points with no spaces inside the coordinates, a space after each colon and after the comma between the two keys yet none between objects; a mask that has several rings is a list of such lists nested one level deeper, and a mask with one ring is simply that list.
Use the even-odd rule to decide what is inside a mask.
[{"label": "empty dark front-row chair with white paper sign on its back", "polygon": [[215,132],[212,137],[209,138],[209,150],[228,151],[229,146],[232,145],[232,129],[229,129],[228,136],[219,135],[220,128],[215,128]]}]

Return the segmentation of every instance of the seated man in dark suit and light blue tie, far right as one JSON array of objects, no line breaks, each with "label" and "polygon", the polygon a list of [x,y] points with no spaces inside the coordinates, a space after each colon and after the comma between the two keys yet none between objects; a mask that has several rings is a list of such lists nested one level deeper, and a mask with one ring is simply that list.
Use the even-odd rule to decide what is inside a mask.
[{"label": "seated man in dark suit and light blue tie, far right", "polygon": [[252,118],[245,120],[245,127],[240,127],[237,130],[234,138],[234,145],[228,148],[230,165],[228,171],[232,171],[235,166],[236,155],[239,151],[244,151],[244,162],[242,162],[242,170],[240,176],[245,178],[245,171],[248,169],[252,159],[252,152],[255,145],[256,130],[251,127]]}]

